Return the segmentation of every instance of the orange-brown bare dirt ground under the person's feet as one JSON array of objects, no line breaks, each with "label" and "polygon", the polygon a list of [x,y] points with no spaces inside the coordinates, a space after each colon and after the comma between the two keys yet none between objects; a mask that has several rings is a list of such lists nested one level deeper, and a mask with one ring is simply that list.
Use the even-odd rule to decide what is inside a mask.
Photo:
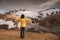
[{"label": "orange-brown bare dirt ground under the person's feet", "polygon": [[25,38],[20,38],[20,32],[0,29],[0,40],[57,40],[58,36],[51,33],[26,32]]}]

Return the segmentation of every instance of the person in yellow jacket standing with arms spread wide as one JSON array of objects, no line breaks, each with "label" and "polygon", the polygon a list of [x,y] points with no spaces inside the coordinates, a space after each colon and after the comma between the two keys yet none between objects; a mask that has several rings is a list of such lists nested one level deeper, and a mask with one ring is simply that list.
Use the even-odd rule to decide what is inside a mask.
[{"label": "person in yellow jacket standing with arms spread wide", "polygon": [[32,23],[32,20],[26,18],[24,16],[24,14],[21,15],[21,18],[19,19],[15,19],[15,21],[19,21],[21,24],[21,38],[24,38],[24,35],[25,35],[25,28],[26,28],[26,25],[27,25],[27,22],[30,22]]}]

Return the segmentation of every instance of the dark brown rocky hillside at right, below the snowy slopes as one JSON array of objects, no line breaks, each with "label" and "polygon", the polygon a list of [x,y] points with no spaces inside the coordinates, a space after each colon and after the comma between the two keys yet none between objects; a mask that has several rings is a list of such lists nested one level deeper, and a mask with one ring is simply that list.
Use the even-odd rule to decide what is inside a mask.
[{"label": "dark brown rocky hillside at right, below the snowy slopes", "polygon": [[53,14],[42,19],[39,25],[49,30],[48,32],[60,34],[60,14]]}]

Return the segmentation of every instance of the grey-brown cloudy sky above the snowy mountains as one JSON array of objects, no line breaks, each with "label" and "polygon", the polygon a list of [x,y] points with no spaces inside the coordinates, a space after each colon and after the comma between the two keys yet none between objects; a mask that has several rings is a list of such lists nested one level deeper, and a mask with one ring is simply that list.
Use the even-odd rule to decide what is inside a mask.
[{"label": "grey-brown cloudy sky above the snowy mountains", "polygon": [[60,0],[0,0],[0,10],[60,8]]}]

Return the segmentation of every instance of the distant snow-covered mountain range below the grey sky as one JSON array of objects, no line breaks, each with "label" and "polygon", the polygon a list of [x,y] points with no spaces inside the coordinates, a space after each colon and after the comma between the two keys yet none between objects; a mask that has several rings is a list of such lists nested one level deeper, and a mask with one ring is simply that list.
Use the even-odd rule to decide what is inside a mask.
[{"label": "distant snow-covered mountain range below the grey sky", "polygon": [[41,11],[23,11],[23,10],[11,10],[9,12],[6,13],[0,13],[0,18],[3,18],[4,15],[6,14],[13,14],[13,15],[17,15],[17,16],[21,16],[21,14],[24,14],[26,17],[32,17],[32,18],[37,18],[37,16],[39,16],[39,13],[43,14],[43,17],[46,17],[46,14],[48,13],[49,15],[51,15],[52,12],[56,13],[56,11],[60,11],[60,8],[52,8],[52,9],[46,9],[46,10],[41,10]]}]

